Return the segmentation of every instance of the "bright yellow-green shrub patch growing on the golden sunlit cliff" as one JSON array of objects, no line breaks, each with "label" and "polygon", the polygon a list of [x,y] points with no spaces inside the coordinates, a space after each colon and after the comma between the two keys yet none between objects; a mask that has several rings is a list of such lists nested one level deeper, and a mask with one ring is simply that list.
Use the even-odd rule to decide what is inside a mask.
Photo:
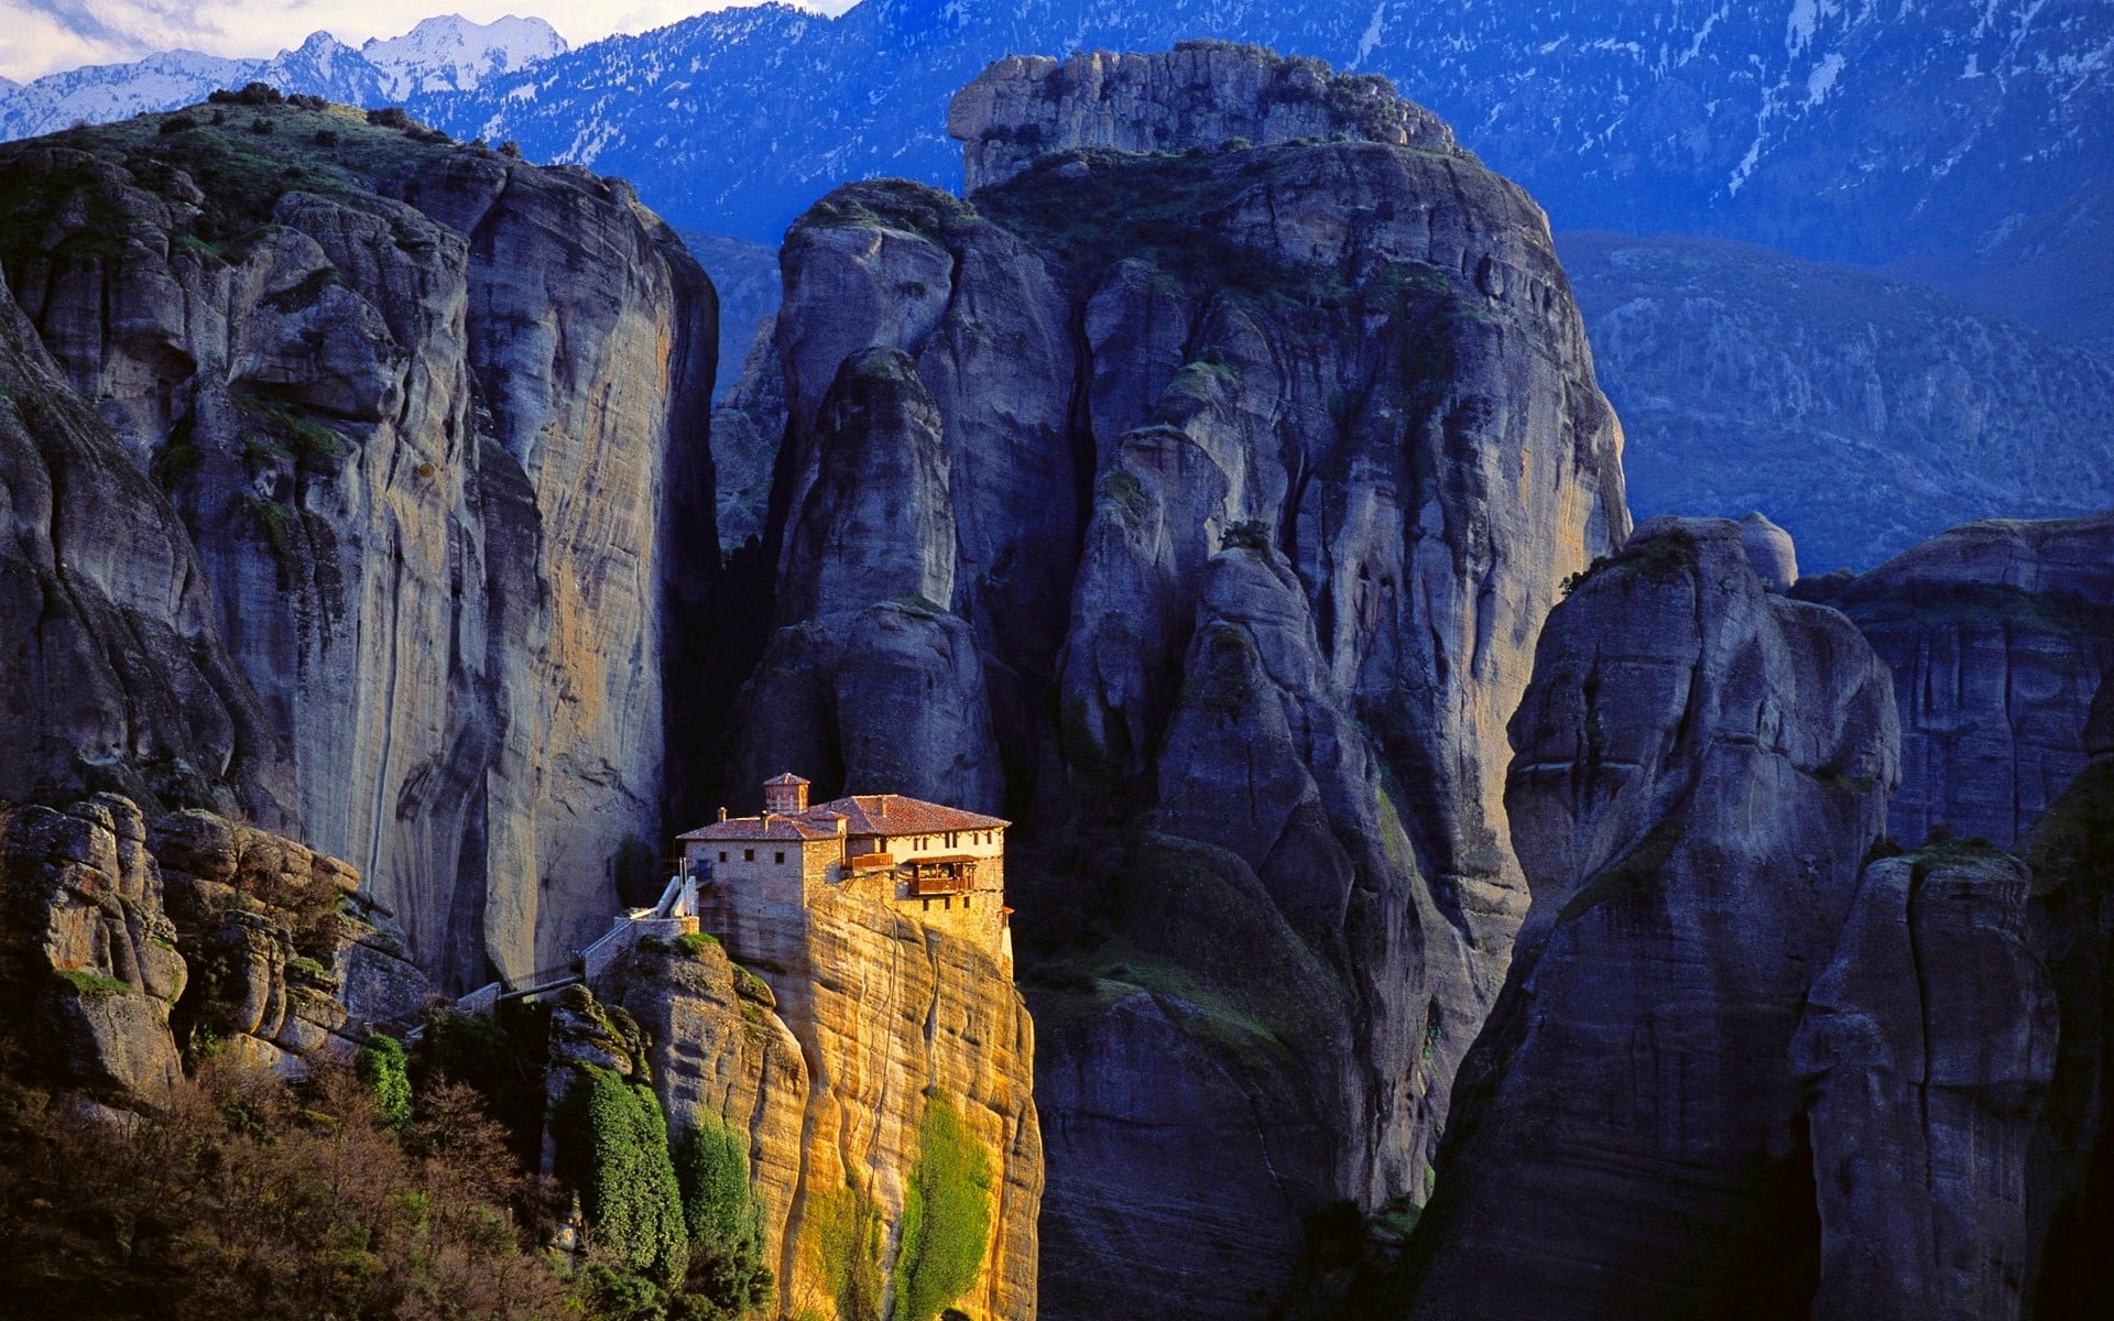
[{"label": "bright yellow-green shrub patch growing on the golden sunlit cliff", "polygon": [[896,1321],[932,1321],[977,1283],[991,1236],[991,1158],[962,1112],[934,1095],[917,1129],[917,1165],[903,1198]]}]

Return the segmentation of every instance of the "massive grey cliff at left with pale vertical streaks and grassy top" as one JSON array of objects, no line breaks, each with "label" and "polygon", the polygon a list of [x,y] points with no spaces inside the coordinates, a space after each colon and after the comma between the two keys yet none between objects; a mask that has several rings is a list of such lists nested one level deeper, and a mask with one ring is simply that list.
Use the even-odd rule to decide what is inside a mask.
[{"label": "massive grey cliff at left with pale vertical streaks and grassy top", "polygon": [[[664,509],[710,484],[710,285],[624,184],[338,110],[226,120],[6,154],[6,285],[135,463],[99,511],[135,526],[99,539],[173,505],[194,547],[161,575],[199,640],[150,664],[209,746],[127,746],[59,702],[38,736],[148,780],[233,765],[220,797],[349,858],[450,983],[560,962],[651,871]],[[249,750],[271,736],[277,765]]]}]

